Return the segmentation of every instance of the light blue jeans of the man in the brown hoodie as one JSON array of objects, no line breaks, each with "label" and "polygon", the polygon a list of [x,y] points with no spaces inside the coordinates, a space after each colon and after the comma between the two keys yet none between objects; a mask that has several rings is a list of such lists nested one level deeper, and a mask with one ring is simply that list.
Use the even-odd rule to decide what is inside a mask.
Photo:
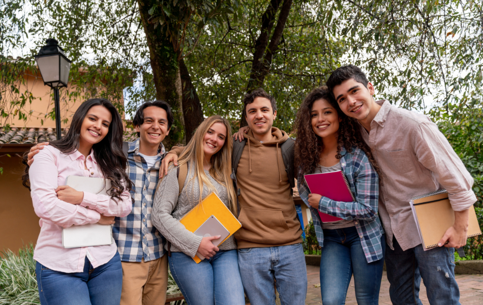
[{"label": "light blue jeans of the man in the brown hoodie", "polygon": [[307,266],[301,243],[238,249],[238,264],[250,304],[275,305],[274,284],[282,305],[305,304]]}]

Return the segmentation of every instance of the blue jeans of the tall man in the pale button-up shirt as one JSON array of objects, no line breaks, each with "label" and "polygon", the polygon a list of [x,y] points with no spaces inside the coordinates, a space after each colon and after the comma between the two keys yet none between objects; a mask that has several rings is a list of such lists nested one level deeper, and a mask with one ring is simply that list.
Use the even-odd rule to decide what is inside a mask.
[{"label": "blue jeans of the tall man in the pale button-up shirt", "polygon": [[396,238],[394,250],[387,248],[386,268],[389,295],[394,305],[421,305],[421,278],[431,305],[460,304],[455,279],[455,249],[435,248],[424,251],[421,245],[403,251]]}]

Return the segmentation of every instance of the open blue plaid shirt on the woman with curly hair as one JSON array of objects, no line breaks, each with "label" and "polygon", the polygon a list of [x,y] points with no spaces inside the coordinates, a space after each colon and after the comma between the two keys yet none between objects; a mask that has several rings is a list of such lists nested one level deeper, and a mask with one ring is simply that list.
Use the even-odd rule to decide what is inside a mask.
[{"label": "open blue plaid shirt on the woman with curly hair", "polygon": [[[349,182],[350,189],[356,201],[334,201],[322,196],[319,202],[319,210],[325,214],[340,217],[345,220],[354,220],[367,262],[377,261],[383,256],[381,236],[384,233],[381,221],[377,215],[379,199],[378,175],[363,150],[353,147],[352,153],[348,153],[342,147],[341,155],[340,163],[342,171]],[[310,190],[307,187],[305,179],[303,178],[303,172],[300,168],[297,175],[297,187],[300,198],[310,208],[317,241],[323,247],[324,234],[320,216],[317,209],[309,205]],[[382,242],[385,241],[382,240]]]}]

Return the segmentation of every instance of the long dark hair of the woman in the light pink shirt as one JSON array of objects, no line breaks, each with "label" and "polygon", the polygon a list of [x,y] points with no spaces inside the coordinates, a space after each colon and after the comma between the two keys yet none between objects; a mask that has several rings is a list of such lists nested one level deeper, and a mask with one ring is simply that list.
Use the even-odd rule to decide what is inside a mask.
[{"label": "long dark hair of the woman in the light pink shirt", "polygon": [[[120,194],[125,189],[130,190],[132,188],[132,182],[126,174],[127,159],[123,153],[123,121],[111,102],[106,99],[90,99],[82,103],[74,113],[72,123],[65,137],[61,140],[52,141],[49,145],[52,145],[64,154],[71,154],[78,149],[82,122],[89,109],[93,106],[103,106],[112,115],[107,135],[99,143],[94,144],[92,148],[102,174],[105,178],[111,180],[112,187],[108,190],[108,194],[112,198],[120,199]],[[30,190],[29,166],[26,164],[27,153],[28,151],[23,156],[25,169],[22,175],[22,184]],[[124,186],[124,181],[126,186]]]}]

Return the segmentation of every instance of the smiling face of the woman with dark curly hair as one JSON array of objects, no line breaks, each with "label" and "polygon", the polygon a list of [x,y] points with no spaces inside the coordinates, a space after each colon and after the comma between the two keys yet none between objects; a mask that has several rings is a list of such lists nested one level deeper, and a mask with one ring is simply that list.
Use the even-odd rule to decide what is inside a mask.
[{"label": "smiling face of the woman with dark curly hair", "polygon": [[323,99],[315,101],[312,104],[310,117],[312,130],[317,136],[325,138],[337,135],[341,119],[337,110],[328,101]]}]

